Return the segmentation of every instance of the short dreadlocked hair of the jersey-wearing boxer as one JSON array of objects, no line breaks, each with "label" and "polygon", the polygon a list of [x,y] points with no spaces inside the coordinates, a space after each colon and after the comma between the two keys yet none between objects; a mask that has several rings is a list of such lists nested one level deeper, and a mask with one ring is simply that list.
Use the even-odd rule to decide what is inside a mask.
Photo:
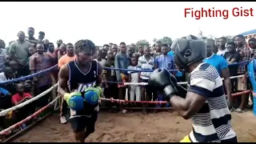
[{"label": "short dreadlocked hair of the jersey-wearing boxer", "polygon": [[96,46],[94,45],[94,42],[91,42],[90,40],[82,39],[79,40],[78,42],[75,42],[74,44],[74,51],[76,54],[84,52],[84,51],[91,51],[92,54],[96,54]]}]

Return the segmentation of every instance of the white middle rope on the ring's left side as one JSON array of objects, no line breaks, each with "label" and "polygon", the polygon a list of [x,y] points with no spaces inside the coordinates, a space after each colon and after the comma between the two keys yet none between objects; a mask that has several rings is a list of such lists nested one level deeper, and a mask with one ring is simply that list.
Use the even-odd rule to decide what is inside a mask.
[{"label": "white middle rope on the ring's left side", "polygon": [[0,117],[1,116],[5,116],[7,113],[9,113],[10,111],[13,111],[13,110],[17,110],[17,109],[20,109],[22,108],[23,106],[26,106],[27,104],[31,103],[31,102],[34,102],[35,100],[38,100],[39,98],[45,96],[46,94],[48,94],[51,90],[53,90],[56,86],[58,86],[58,83],[56,83],[54,86],[51,86],[48,90],[42,92],[41,94],[38,94],[37,96],[35,96],[34,98],[31,98],[29,99],[28,101],[26,102],[22,102],[20,104],[18,104],[17,106],[13,106],[13,107],[10,107],[9,109],[6,109],[6,110],[2,110],[0,112]]}]

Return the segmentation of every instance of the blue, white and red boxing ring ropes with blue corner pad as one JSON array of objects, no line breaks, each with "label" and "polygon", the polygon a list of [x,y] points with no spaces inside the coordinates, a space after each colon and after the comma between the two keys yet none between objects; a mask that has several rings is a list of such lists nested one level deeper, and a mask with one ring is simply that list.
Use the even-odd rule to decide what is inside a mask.
[{"label": "blue, white and red boxing ring ropes with blue corner pad", "polygon": [[[253,87],[253,95],[254,95],[254,102],[256,102],[256,97],[255,97],[255,93],[256,93],[256,82],[255,82],[255,76],[254,76],[254,61],[250,61],[250,62],[238,62],[238,63],[234,63],[231,65],[247,65],[247,69],[248,69],[248,75],[250,78],[250,82],[252,84]],[[106,70],[126,70],[126,69],[116,69],[116,68],[109,68],[109,67],[103,67]],[[39,75],[42,74],[47,74],[52,70],[56,70],[57,66],[53,66],[47,70],[43,70],[42,72],[36,73],[36,74],[31,74],[28,75],[26,77],[22,77],[22,78],[16,78],[16,79],[12,79],[12,80],[8,80],[6,82],[0,82],[0,86],[2,85],[6,85],[12,82],[19,82],[19,81],[25,81],[27,79],[30,79],[32,77],[37,77]],[[133,71],[133,72],[150,72],[153,70],[126,70],[126,71]],[[177,70],[171,70],[171,71],[177,71]],[[232,78],[242,78],[244,75],[238,75],[238,76],[233,76],[230,77],[230,79]],[[122,86],[129,86],[129,85],[137,85],[137,86],[146,86],[147,83],[146,82],[140,82],[140,83],[132,83],[132,82],[112,82],[112,83],[119,83],[122,84]],[[179,85],[186,85],[187,82],[178,82]],[[44,91],[42,94],[38,94],[37,96],[35,96],[34,98],[31,98],[30,100],[26,101],[26,102],[22,102],[21,104],[17,105],[17,106],[13,106],[9,109],[6,110],[2,110],[0,112],[0,116],[6,116],[7,114],[9,114],[10,112],[14,111],[14,110],[18,110],[20,108],[22,108],[23,106],[28,105],[31,102],[34,102],[36,100],[38,100],[38,98],[42,98],[43,96],[45,96],[47,93],[49,93],[51,90],[54,90],[54,88],[56,88],[58,86],[58,84],[55,84],[54,86],[50,87],[50,89]],[[250,93],[251,90],[245,90],[239,93],[235,93],[235,94],[231,94],[233,97],[241,95],[241,94],[248,94]],[[23,119],[21,122],[17,122],[12,126],[9,126],[8,128],[6,128],[5,130],[2,130],[0,132],[0,136],[1,135],[8,135],[8,131],[10,130],[14,130],[14,128],[22,125],[22,123],[29,121],[30,119],[36,117],[38,114],[41,114],[43,111],[45,111],[46,109],[48,109],[50,106],[54,105],[54,110],[57,110],[57,104],[58,104],[58,98],[54,98],[54,100],[52,102],[50,102],[48,105],[42,107],[40,110],[36,111],[34,114],[30,115],[29,117]],[[121,99],[114,99],[114,98],[101,98],[101,101],[110,101],[110,102],[119,102],[119,103],[126,103],[126,102],[138,102],[138,101],[127,101],[127,100],[121,100]],[[154,104],[164,104],[166,103],[166,101],[139,101],[139,103],[154,103]],[[254,105],[254,114],[256,115],[256,106]]]}]

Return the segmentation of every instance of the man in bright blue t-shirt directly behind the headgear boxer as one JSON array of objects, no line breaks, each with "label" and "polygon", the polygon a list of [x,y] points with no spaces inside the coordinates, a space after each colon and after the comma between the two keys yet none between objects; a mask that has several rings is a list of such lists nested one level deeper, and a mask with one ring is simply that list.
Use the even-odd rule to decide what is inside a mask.
[{"label": "man in bright blue t-shirt directly behind the headgear boxer", "polygon": [[214,66],[218,70],[218,74],[224,78],[226,96],[228,98],[229,105],[232,106],[233,98],[231,97],[230,70],[228,68],[228,63],[225,58],[213,53],[214,39],[206,38],[204,41],[206,42],[207,58],[205,58],[203,62]]}]

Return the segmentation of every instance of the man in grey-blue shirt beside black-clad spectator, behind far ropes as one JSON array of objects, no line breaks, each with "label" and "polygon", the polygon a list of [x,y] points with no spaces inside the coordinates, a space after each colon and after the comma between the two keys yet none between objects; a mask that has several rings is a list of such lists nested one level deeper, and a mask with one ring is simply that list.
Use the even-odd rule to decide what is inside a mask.
[{"label": "man in grey-blue shirt beside black-clad spectator, behind far ropes", "polygon": [[[128,56],[126,54],[126,43],[120,43],[120,51],[114,57],[114,68],[118,69],[127,69],[130,66]],[[116,70],[116,76],[118,82],[127,82],[127,71],[126,70]],[[126,86],[119,85],[119,99],[124,100],[126,98]],[[123,113],[126,113],[126,110],[123,109],[121,104],[121,109]]]}]

